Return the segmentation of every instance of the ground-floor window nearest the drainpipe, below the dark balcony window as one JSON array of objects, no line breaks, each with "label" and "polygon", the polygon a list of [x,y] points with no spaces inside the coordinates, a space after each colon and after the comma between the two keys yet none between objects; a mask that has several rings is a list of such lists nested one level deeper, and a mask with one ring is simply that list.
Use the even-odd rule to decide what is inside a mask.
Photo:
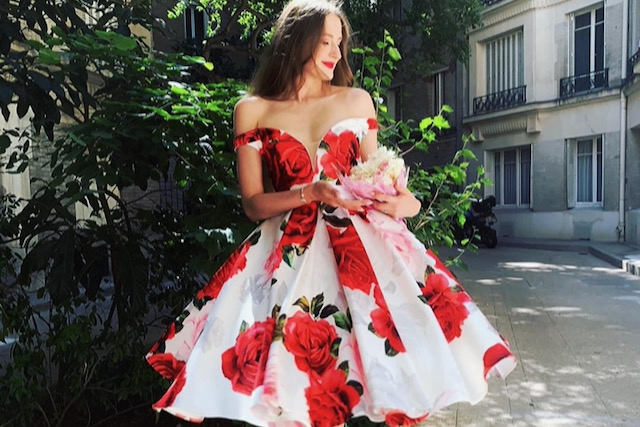
[{"label": "ground-floor window nearest the drainpipe, below the dark balcony window", "polygon": [[602,204],[602,136],[570,140],[567,161],[569,207]]}]

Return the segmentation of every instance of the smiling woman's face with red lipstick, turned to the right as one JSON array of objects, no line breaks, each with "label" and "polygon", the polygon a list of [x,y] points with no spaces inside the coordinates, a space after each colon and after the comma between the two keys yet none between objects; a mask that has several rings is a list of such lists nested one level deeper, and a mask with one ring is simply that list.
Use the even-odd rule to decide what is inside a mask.
[{"label": "smiling woman's face with red lipstick, turned to the right", "polygon": [[313,57],[304,65],[304,73],[316,75],[322,80],[333,80],[333,71],[342,58],[340,44],[342,43],[342,21],[337,15],[327,15],[324,18],[324,28],[320,36],[320,43],[313,52]]}]

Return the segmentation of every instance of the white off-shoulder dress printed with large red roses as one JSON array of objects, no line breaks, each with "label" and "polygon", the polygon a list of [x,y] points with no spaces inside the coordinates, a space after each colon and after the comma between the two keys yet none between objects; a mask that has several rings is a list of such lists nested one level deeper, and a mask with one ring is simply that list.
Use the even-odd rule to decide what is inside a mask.
[{"label": "white off-shoulder dress printed with large red roses", "polygon": [[[276,190],[335,182],[375,120],[335,124],[315,158],[278,129],[236,137]],[[154,408],[189,421],[411,425],[515,366],[509,345],[403,222],[309,203],[236,249],[153,346],[170,385]]]}]

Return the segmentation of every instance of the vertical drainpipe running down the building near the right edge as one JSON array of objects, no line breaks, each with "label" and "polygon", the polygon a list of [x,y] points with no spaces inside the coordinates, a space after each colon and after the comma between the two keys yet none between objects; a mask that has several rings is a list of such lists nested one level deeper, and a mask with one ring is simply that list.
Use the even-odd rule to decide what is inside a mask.
[{"label": "vertical drainpipe running down the building near the right edge", "polygon": [[627,97],[624,94],[624,82],[627,80],[628,40],[629,37],[629,0],[622,2],[622,70],[620,85],[620,195],[618,202],[618,241],[625,241],[625,188],[627,153]]}]

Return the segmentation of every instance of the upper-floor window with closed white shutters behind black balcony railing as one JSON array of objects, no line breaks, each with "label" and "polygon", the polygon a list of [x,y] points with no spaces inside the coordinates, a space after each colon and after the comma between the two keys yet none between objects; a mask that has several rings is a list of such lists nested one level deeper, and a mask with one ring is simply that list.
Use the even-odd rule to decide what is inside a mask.
[{"label": "upper-floor window with closed white shutters behind black balcony railing", "polygon": [[487,93],[524,85],[522,30],[486,44]]}]

